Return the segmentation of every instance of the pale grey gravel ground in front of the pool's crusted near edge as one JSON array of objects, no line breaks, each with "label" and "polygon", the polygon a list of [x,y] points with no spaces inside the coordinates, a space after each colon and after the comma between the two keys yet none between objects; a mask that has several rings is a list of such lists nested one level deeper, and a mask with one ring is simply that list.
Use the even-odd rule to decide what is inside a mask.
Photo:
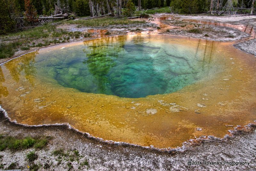
[{"label": "pale grey gravel ground in front of the pool's crusted near edge", "polygon": [[[38,159],[34,161],[39,170],[253,170],[256,169],[256,129],[250,133],[237,132],[226,142],[208,142],[189,147],[185,152],[159,152],[129,145],[106,144],[82,136],[66,126],[24,127],[10,123],[3,114],[0,118],[0,133],[11,136],[51,136],[52,140],[43,150],[36,151]],[[79,151],[75,161],[68,158],[58,159],[53,150],[64,148],[64,152]],[[17,162],[17,168],[29,170],[32,166],[25,158],[27,152],[34,149],[12,152],[0,152],[0,164],[5,167]],[[87,160],[88,166],[81,166]],[[60,161],[60,162],[59,162]],[[249,165],[192,165],[188,161],[207,162],[250,162]],[[78,167],[80,168],[78,169]],[[46,168],[47,169],[44,169]]]}]

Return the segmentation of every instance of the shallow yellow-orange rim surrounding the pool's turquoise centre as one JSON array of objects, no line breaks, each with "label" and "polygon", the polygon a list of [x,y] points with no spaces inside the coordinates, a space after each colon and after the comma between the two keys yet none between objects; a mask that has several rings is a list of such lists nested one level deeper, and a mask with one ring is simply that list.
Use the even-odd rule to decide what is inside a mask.
[{"label": "shallow yellow-orange rim surrounding the pool's turquoise centre", "polygon": [[157,148],[181,146],[195,136],[223,137],[232,129],[226,125],[243,126],[255,120],[256,58],[253,55],[235,49],[228,42],[167,36],[161,41],[172,39],[203,49],[204,63],[217,59],[225,69],[178,92],[145,98],[79,92],[29,74],[31,68],[26,66],[35,60],[38,52],[82,42],[70,43],[28,53],[3,64],[1,106],[18,123],[69,123],[104,140]]}]

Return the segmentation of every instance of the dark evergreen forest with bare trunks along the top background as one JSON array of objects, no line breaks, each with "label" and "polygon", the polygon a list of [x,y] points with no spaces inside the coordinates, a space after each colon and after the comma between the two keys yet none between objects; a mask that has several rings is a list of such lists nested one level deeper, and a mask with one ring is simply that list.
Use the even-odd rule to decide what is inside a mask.
[{"label": "dark evergreen forest with bare trunks along the top background", "polygon": [[[255,8],[255,0],[1,0],[0,34],[38,25],[38,17],[66,13],[65,17],[132,16],[142,9],[170,7],[175,13],[204,13],[223,7]],[[251,13],[252,13],[251,12]],[[62,19],[62,18],[61,18]]]}]

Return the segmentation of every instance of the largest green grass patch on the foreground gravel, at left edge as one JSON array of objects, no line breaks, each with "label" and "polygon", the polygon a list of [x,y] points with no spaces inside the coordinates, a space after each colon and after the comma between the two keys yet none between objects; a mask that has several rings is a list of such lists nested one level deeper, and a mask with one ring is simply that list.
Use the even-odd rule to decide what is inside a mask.
[{"label": "largest green grass patch on the foreground gravel, at left edge", "polygon": [[0,151],[9,148],[11,150],[21,150],[34,147],[36,149],[42,149],[48,144],[49,137],[32,138],[30,136],[23,139],[18,139],[12,136],[0,136]]}]

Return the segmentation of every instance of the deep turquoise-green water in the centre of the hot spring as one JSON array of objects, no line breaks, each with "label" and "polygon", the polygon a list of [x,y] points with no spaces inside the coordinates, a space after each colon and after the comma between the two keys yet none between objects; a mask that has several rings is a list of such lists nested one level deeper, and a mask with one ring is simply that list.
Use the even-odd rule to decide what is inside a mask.
[{"label": "deep turquoise-green water in the centre of the hot spring", "polygon": [[213,72],[204,50],[163,38],[95,39],[39,53],[34,65],[64,87],[131,98],[172,93]]}]

